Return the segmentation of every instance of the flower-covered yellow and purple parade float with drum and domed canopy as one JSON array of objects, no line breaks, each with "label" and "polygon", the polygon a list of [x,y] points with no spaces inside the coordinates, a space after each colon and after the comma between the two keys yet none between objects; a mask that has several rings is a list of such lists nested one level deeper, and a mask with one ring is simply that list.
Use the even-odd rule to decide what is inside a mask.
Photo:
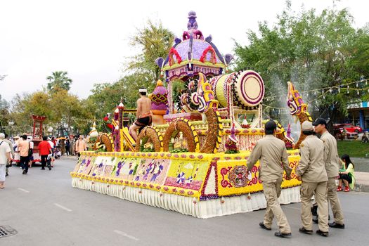
[{"label": "flower-covered yellow and purple parade float with drum and domed canopy", "polygon": [[[182,39],[175,39],[167,58],[155,61],[164,81],[149,96],[155,125],[134,141],[123,124],[129,110],[119,103],[114,117],[104,118],[110,133],[91,131],[93,151],[82,153],[72,186],[198,218],[265,208],[259,163],[247,170],[250,151],[264,137],[264,82],[252,70],[228,73],[232,58],[221,55],[212,36],[204,39],[190,12]],[[185,85],[177,103],[174,82]],[[287,94],[291,115],[311,121],[292,83]],[[304,134],[294,143],[278,124],[276,136],[296,167]],[[281,204],[299,202],[300,183],[294,172],[284,179]]]}]

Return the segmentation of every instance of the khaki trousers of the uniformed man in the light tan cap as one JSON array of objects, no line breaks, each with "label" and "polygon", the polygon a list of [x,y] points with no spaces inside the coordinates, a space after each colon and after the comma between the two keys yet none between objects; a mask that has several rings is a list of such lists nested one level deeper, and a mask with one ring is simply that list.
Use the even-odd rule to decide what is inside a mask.
[{"label": "khaki trousers of the uniformed man in the light tan cap", "polygon": [[327,201],[327,181],[315,183],[302,181],[300,188],[301,199],[301,221],[302,226],[309,231],[313,230],[313,214],[311,214],[311,198],[315,193],[315,200],[318,204],[318,226],[319,230],[328,232],[328,201]]}]

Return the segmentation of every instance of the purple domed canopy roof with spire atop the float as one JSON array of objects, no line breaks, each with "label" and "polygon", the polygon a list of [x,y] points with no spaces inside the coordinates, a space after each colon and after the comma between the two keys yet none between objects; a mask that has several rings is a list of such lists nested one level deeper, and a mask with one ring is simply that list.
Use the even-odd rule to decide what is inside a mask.
[{"label": "purple domed canopy roof with spire atop the float", "polygon": [[223,70],[233,59],[226,54],[222,56],[218,48],[212,43],[212,35],[204,39],[196,13],[188,13],[187,31],[182,39],[176,38],[167,58],[157,58],[155,63],[165,72],[167,82],[174,79],[187,79],[202,72],[206,76],[221,75]]}]

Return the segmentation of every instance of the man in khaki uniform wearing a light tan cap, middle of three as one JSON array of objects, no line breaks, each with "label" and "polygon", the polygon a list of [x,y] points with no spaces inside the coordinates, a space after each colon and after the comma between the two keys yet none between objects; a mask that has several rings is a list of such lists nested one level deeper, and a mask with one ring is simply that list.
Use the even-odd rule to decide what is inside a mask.
[{"label": "man in khaki uniform wearing a light tan cap, middle of three", "polygon": [[296,169],[297,179],[302,180],[300,188],[302,228],[299,228],[299,232],[313,233],[313,216],[310,207],[311,198],[315,193],[319,209],[319,230],[316,233],[328,236],[328,176],[323,160],[324,144],[315,136],[311,122],[302,123],[302,132],[307,136],[300,145],[301,159]]}]

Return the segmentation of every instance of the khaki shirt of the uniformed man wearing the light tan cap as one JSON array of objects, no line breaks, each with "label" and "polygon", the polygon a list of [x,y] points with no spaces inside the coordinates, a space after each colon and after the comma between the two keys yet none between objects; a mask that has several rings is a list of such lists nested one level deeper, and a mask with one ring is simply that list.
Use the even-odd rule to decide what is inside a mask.
[{"label": "khaki shirt of the uniformed man wearing the light tan cap", "polygon": [[296,168],[297,176],[301,176],[302,181],[319,183],[328,181],[325,171],[324,143],[317,136],[307,136],[300,145],[301,159]]}]

